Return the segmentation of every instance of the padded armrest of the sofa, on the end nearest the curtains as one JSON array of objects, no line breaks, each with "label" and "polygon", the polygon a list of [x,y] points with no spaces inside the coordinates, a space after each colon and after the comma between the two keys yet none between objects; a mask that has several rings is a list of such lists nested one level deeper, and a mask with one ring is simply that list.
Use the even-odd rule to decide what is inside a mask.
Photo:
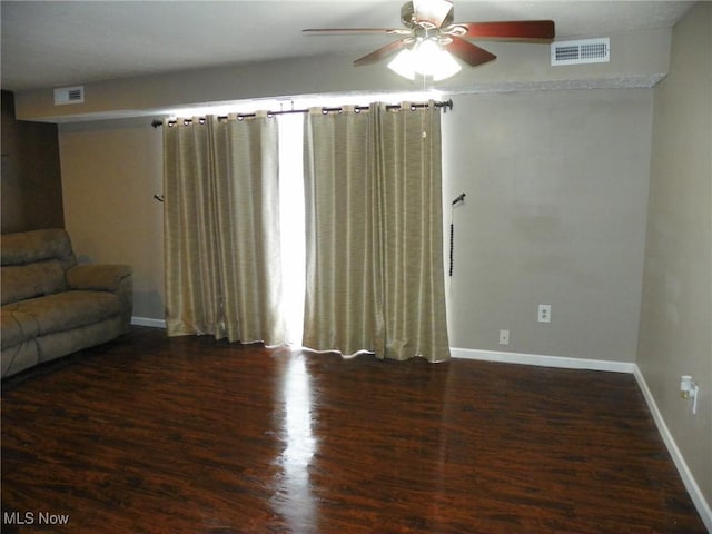
[{"label": "padded armrest of the sofa, on the end nearest the curtains", "polygon": [[121,303],[121,325],[128,332],[134,312],[134,269],[128,265],[77,265],[67,269],[69,289],[110,291]]}]

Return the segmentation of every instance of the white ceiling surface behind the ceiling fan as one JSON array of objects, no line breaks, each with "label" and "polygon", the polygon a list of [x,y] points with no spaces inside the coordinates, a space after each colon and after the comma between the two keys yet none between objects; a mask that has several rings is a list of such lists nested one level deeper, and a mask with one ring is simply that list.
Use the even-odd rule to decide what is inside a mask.
[{"label": "white ceiling surface behind the ceiling fan", "polygon": [[[28,90],[266,59],[348,53],[382,36],[305,28],[399,27],[403,1],[6,1],[3,89]],[[694,3],[455,0],[455,21],[553,19],[558,39],[670,28]]]}]

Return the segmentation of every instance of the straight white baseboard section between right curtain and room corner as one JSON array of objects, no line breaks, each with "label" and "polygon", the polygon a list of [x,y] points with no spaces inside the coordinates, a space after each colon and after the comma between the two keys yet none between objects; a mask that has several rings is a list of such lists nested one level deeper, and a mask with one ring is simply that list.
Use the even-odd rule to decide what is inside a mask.
[{"label": "straight white baseboard section between right curtain and room corner", "polygon": [[606,359],[566,358],[563,356],[542,356],[538,354],[505,353],[500,350],[477,350],[473,348],[451,348],[453,358],[482,359],[503,364],[535,365],[538,367],[560,367],[563,369],[609,370],[613,373],[633,373],[632,362],[611,362]]}]

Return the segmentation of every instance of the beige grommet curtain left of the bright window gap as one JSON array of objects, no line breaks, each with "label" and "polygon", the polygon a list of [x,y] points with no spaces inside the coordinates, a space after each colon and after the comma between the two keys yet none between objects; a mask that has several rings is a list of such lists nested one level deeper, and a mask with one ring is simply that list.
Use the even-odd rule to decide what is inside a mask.
[{"label": "beige grommet curtain left of the bright window gap", "polygon": [[168,335],[284,343],[277,122],[164,125]]}]

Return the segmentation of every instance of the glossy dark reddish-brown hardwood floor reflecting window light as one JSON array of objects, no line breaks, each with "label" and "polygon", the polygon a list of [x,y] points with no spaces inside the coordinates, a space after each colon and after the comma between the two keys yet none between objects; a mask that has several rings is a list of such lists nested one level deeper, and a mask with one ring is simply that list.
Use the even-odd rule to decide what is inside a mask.
[{"label": "glossy dark reddish-brown hardwood floor reflecting window light", "polygon": [[149,328],[3,383],[2,513],[3,533],[706,532],[631,375]]}]

